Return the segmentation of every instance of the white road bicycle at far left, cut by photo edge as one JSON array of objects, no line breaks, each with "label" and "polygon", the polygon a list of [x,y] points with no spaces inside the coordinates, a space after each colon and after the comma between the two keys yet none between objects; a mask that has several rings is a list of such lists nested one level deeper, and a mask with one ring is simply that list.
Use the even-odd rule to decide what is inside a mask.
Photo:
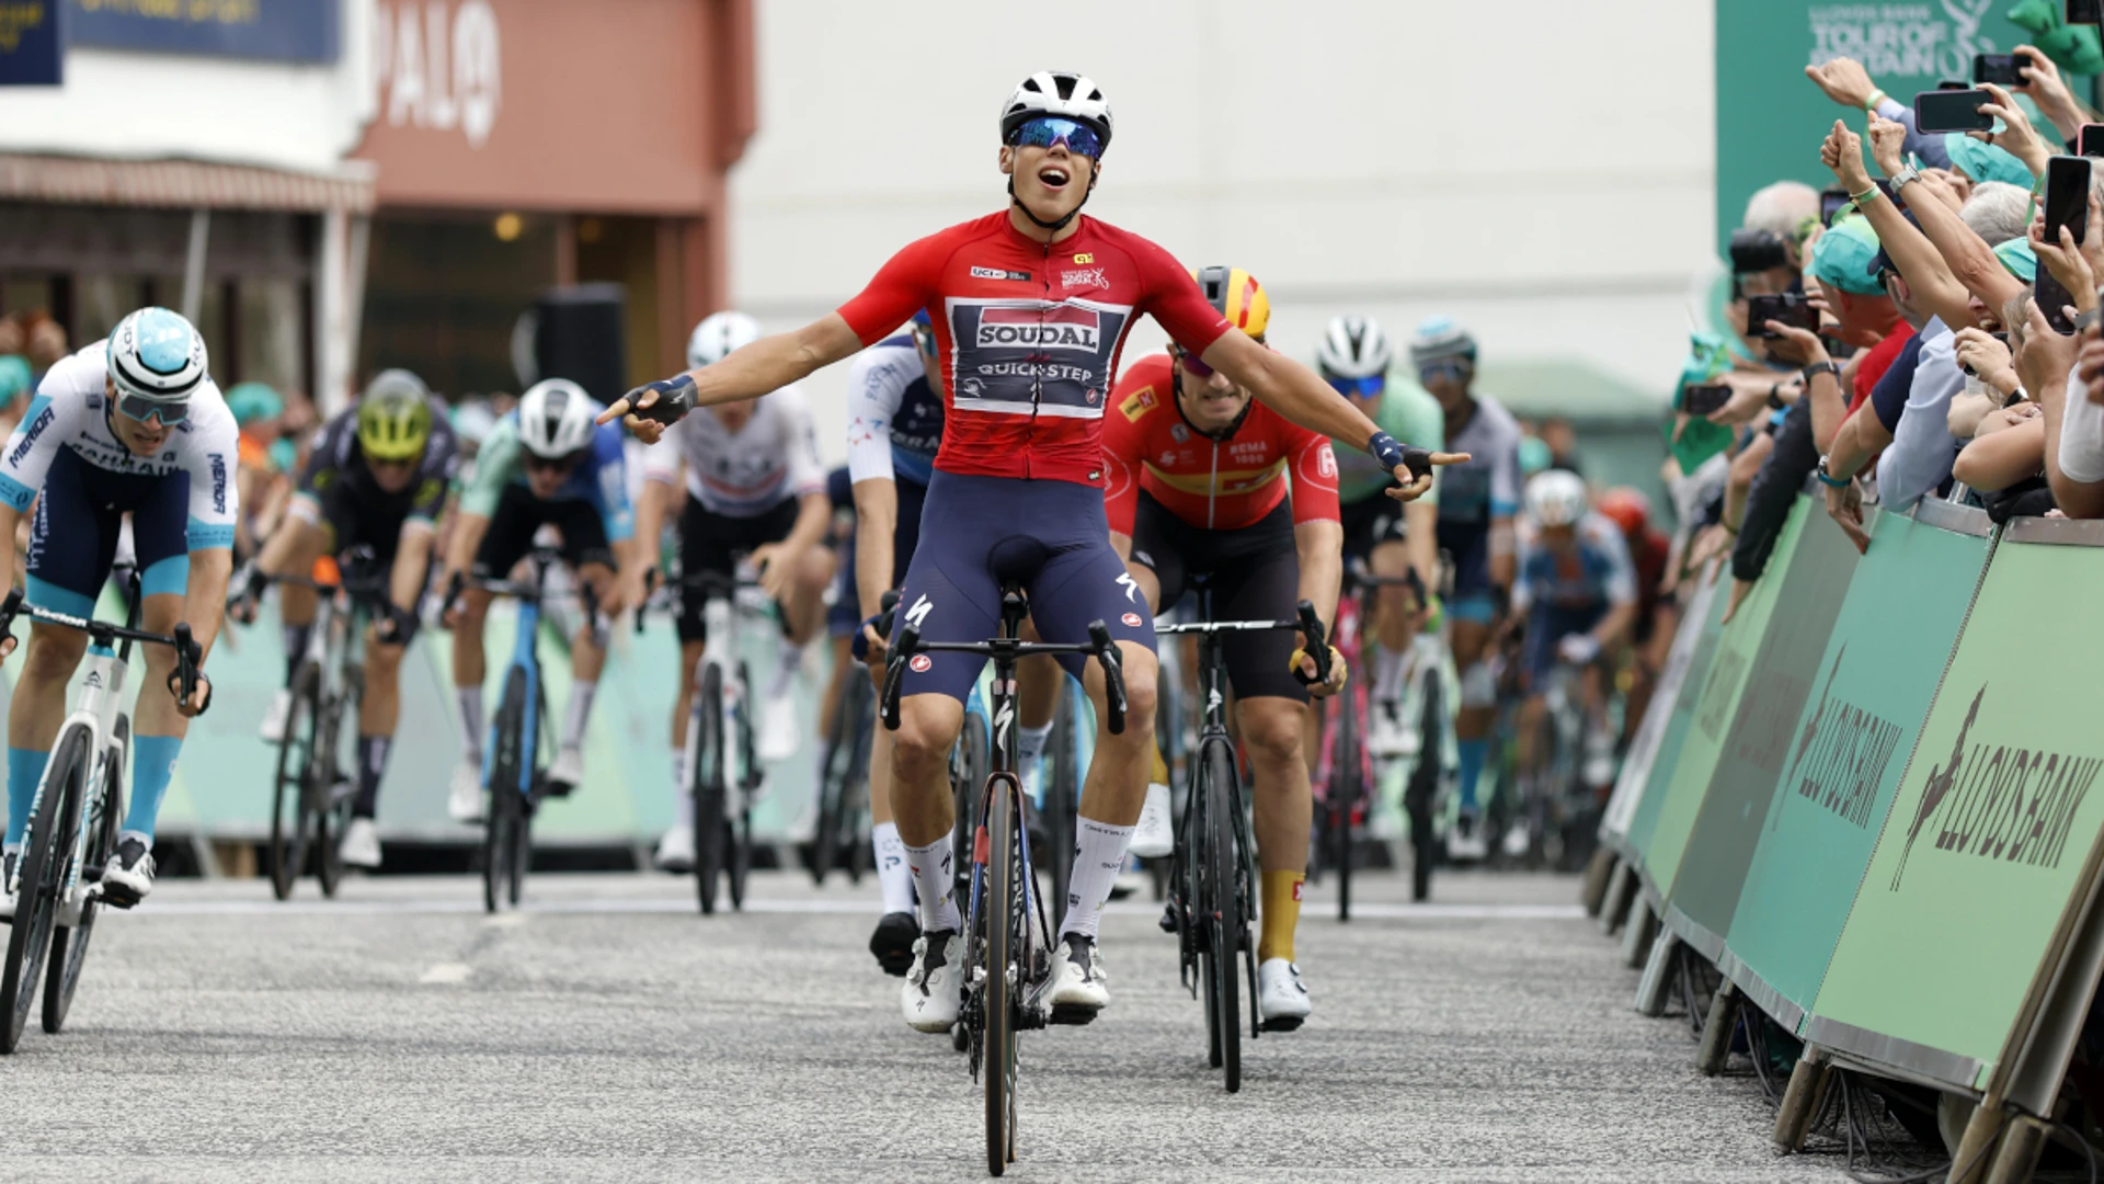
[{"label": "white road bicycle at far left, cut by photo edge", "polygon": [[141,632],[139,573],[126,571],[124,584],[124,626],[27,605],[21,590],[11,590],[0,603],[0,636],[13,636],[15,617],[88,634],[88,672],[74,712],[59,725],[36,796],[29,798],[29,826],[8,885],[15,889],[15,923],[8,929],[6,963],[0,963],[0,1053],[13,1053],[21,1043],[38,975],[44,978],[44,1030],[57,1032],[65,1024],[80,986],[80,967],[88,959],[95,914],[105,902],[116,908],[133,904],[105,900],[101,891],[103,866],[116,857],[118,824],[124,817],[130,712],[122,697],[133,643],[175,647],[181,697],[189,699],[198,689],[204,649],[189,626],[175,626],[175,636]]}]

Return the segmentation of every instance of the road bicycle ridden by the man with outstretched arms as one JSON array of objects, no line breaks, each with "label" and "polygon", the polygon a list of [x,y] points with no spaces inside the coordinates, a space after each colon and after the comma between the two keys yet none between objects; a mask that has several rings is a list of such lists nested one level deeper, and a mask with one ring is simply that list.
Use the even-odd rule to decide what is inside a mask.
[{"label": "road bicycle ridden by the man with outstretched arms", "polygon": [[1044,1005],[1044,992],[1052,984],[1052,925],[1031,872],[1029,803],[1016,775],[1016,664],[1035,653],[1092,655],[1102,666],[1111,731],[1126,731],[1126,678],[1111,630],[1102,621],[1090,621],[1081,645],[1027,643],[1018,636],[1027,613],[1023,592],[1004,584],[995,638],[924,643],[919,626],[909,624],[884,659],[884,727],[892,731],[898,729],[898,685],[909,662],[924,653],[976,653],[993,659],[993,744],[978,792],[978,824],[972,830],[964,1005],[957,1015],[972,1074],[987,1089],[987,1171],[993,1176],[1016,1159],[1016,1032],[1044,1028],[1054,1020]]}]

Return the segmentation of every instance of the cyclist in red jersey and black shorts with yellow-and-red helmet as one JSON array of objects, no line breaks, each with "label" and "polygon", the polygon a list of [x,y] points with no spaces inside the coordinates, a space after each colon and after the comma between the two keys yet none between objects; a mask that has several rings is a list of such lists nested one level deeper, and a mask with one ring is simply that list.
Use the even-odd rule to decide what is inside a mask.
[{"label": "cyclist in red jersey and black shorts with yellow-and-red helmet", "polygon": [[[1237,329],[1265,339],[1271,299],[1248,272],[1203,268],[1197,282]],[[1117,379],[1102,459],[1111,470],[1105,491],[1111,546],[1128,556],[1151,611],[1174,605],[1203,577],[1212,588],[1212,619],[1292,619],[1300,600],[1311,600],[1323,621],[1336,617],[1344,525],[1336,455],[1326,436],[1290,423],[1227,375],[1170,350],[1140,358]],[[1294,961],[1313,820],[1307,702],[1309,691],[1328,695],[1344,685],[1344,662],[1332,659],[1328,685],[1307,687],[1292,670],[1290,632],[1231,632],[1220,645],[1254,773],[1262,866],[1258,1018],[1267,1032],[1290,1032],[1313,1009]],[[1313,676],[1313,662],[1302,662],[1302,676]],[[1168,811],[1164,805],[1142,817],[1151,813]]]}]

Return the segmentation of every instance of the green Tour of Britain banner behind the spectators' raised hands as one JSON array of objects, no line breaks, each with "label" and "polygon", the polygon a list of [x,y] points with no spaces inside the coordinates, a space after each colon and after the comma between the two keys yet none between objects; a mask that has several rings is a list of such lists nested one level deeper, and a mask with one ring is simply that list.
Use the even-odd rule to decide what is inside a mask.
[{"label": "green Tour of Britain banner behind the spectators' raised hands", "polygon": [[[1856,131],[1862,112],[1828,99],[1805,67],[1854,57],[1894,99],[1942,80],[1969,80],[1976,53],[2009,53],[2028,34],[2005,13],[2014,0],[1717,0],[1717,251],[1772,181],[1833,185],[1820,139],[1837,118]],[[2056,2],[2054,8],[2060,4]]]}]

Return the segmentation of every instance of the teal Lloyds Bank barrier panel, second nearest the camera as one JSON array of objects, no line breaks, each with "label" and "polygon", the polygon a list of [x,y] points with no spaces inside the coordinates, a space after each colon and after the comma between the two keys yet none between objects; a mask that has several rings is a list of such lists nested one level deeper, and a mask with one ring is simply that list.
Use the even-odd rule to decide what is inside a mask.
[{"label": "teal Lloyds Bank barrier panel, second nearest the camera", "polygon": [[1786,1028],[1803,1022],[1826,975],[1980,586],[1986,514],[1959,514],[1978,533],[1879,516],[1782,754],[1719,965]]}]

